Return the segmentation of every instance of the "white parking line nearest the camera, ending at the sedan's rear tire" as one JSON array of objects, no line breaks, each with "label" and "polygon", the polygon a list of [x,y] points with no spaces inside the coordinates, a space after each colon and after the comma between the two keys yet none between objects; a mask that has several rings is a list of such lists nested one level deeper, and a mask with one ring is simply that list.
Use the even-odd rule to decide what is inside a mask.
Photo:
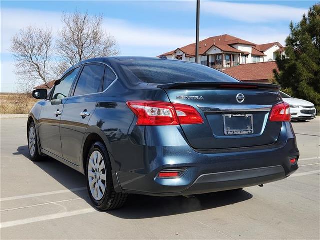
[{"label": "white parking line nearest the camera, ending at the sedan's rear tire", "polygon": [[90,208],[85,208],[85,209],[76,210],[76,211],[67,211],[67,212],[44,215],[44,216],[30,217],[30,218],[21,219],[21,220],[15,220],[15,221],[6,221],[6,222],[1,222],[0,228],[24,225],[24,224],[39,222],[39,221],[53,220],[53,219],[58,219],[58,218],[63,218],[68,216],[81,215],[81,214],[91,213],[95,211],[97,210],[95,210],[93,207],[90,207]]}]

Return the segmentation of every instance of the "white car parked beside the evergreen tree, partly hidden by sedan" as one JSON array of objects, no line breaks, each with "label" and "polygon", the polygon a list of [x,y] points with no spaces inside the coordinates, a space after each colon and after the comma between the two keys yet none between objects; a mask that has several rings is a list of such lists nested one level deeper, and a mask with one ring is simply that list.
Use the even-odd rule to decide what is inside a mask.
[{"label": "white car parked beside the evergreen tree, partly hidden by sedan", "polygon": [[283,101],[290,105],[292,120],[306,121],[315,118],[316,109],[313,103],[293,98],[282,91],[280,91],[280,95],[282,96]]}]

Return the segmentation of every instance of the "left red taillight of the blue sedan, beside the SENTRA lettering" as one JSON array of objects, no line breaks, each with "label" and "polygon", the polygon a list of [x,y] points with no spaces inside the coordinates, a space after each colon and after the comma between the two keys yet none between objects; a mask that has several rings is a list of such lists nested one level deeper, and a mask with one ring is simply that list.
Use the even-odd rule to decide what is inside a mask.
[{"label": "left red taillight of the blue sedan, beside the SENTRA lettering", "polygon": [[127,101],[138,118],[136,125],[160,126],[201,124],[203,119],[192,106],[163,101]]}]

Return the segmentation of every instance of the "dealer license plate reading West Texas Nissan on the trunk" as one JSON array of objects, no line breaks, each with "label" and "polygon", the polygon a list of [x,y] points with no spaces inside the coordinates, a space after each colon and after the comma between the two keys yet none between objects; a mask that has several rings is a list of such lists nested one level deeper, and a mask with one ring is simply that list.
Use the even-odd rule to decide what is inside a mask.
[{"label": "dealer license plate reading West Texas Nissan on the trunk", "polygon": [[253,133],[252,114],[225,114],[223,115],[225,135],[241,135]]}]

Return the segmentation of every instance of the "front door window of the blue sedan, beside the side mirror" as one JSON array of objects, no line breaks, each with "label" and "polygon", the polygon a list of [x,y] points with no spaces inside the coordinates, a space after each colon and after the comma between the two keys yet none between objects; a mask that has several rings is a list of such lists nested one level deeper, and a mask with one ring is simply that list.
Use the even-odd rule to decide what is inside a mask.
[{"label": "front door window of the blue sedan, beside the side mirror", "polygon": [[72,83],[79,70],[80,67],[75,68],[74,70],[68,72],[63,76],[63,78],[60,80],[60,83],[54,86],[52,99],[63,99],[65,97],[68,97]]}]

